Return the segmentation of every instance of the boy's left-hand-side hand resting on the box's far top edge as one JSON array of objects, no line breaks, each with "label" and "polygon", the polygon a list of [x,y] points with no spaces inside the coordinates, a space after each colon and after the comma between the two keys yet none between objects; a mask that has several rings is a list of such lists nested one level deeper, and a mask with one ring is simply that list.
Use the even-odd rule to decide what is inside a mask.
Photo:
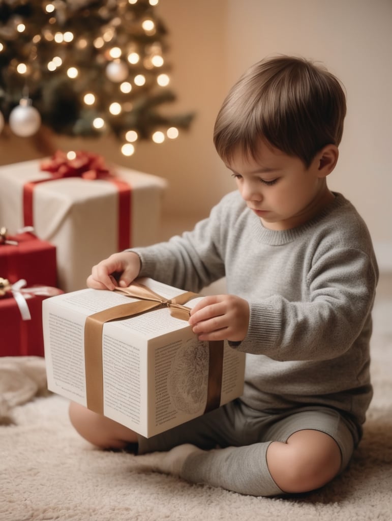
[{"label": "boy's left-hand-side hand resting on the box's far top edge", "polygon": [[113,253],[93,266],[87,278],[87,286],[97,290],[113,290],[116,286],[125,288],[138,276],[139,271],[140,258],[136,253]]}]

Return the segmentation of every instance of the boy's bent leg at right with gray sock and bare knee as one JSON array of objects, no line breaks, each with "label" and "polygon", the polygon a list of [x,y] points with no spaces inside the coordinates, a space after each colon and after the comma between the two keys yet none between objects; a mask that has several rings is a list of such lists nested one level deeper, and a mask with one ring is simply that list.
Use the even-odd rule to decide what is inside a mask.
[{"label": "boy's bent leg at right with gray sock and bare knee", "polygon": [[322,407],[276,421],[260,441],[208,452],[179,446],[162,458],[158,470],[243,494],[305,492],[341,472],[354,445],[340,415]]}]

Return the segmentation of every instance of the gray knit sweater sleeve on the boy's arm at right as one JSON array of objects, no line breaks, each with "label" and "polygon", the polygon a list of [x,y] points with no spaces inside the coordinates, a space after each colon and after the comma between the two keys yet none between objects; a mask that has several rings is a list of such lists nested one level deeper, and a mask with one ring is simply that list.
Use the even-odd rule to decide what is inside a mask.
[{"label": "gray knit sweater sleeve on the boy's arm at right", "polygon": [[376,282],[371,256],[333,249],[310,269],[305,299],[290,302],[273,295],[250,302],[248,334],[237,349],[277,361],[342,356],[365,326],[370,334]]}]

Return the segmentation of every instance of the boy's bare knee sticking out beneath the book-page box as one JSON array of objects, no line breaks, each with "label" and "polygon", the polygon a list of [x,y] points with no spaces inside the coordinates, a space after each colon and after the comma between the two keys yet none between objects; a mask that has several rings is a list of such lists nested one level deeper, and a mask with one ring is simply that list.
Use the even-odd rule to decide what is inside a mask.
[{"label": "boy's bare knee sticking out beneath the book-page box", "polygon": [[79,403],[69,406],[71,424],[87,441],[101,449],[125,449],[137,443],[137,435],[128,427],[88,410]]}]

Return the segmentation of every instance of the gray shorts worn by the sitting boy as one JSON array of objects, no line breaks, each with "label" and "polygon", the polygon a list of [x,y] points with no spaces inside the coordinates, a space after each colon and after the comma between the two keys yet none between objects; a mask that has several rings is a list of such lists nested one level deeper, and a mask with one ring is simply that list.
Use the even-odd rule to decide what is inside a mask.
[{"label": "gray shorts worn by the sitting boy", "polygon": [[294,432],[305,429],[325,432],[336,441],[342,453],[342,472],[359,441],[357,428],[338,411],[319,405],[265,413],[234,400],[159,435],[148,439],[140,436],[138,454],[168,451],[183,443],[209,450],[217,446],[286,442]]}]

